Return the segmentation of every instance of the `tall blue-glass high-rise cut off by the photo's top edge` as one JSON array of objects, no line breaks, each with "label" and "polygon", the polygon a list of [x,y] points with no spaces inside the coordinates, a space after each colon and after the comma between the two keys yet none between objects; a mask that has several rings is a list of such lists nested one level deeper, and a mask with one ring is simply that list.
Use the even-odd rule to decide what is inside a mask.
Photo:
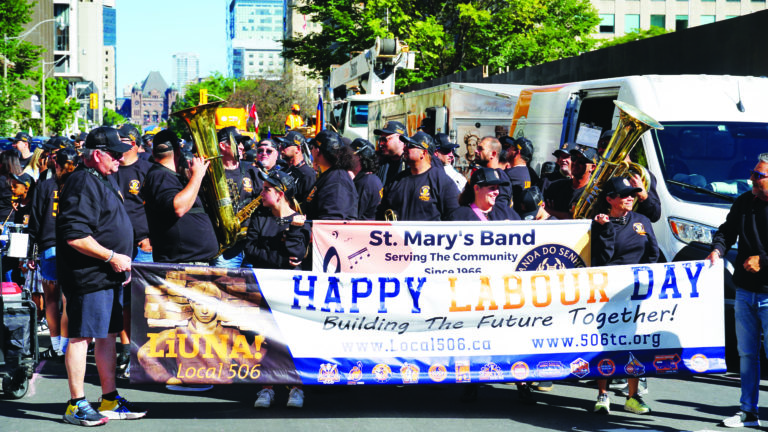
[{"label": "tall blue-glass high-rise cut off by the photo's top edge", "polygon": [[227,65],[235,78],[277,79],[283,74],[285,0],[227,3]]}]

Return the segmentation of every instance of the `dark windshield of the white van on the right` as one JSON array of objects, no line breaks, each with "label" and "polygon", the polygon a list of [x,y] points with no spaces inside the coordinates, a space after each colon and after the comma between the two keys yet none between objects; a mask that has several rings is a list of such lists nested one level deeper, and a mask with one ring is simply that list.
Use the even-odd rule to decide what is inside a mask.
[{"label": "dark windshield of the white van on the right", "polygon": [[[674,123],[652,132],[669,192],[729,206],[752,188],[750,171],[768,151],[768,123]],[[661,181],[661,179],[659,179]]]}]

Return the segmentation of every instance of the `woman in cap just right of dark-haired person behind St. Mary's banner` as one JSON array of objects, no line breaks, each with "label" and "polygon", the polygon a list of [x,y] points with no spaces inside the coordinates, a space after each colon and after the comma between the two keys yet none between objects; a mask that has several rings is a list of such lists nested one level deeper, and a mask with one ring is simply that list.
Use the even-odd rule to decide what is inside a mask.
[{"label": "woman in cap just right of dark-haired person behind St. Mary's banner", "polygon": [[381,202],[381,179],[374,174],[379,169],[376,150],[370,141],[357,138],[352,141],[352,150],[355,152],[355,166],[352,172],[355,174],[355,189],[357,190],[357,219],[375,220],[376,209]]}]

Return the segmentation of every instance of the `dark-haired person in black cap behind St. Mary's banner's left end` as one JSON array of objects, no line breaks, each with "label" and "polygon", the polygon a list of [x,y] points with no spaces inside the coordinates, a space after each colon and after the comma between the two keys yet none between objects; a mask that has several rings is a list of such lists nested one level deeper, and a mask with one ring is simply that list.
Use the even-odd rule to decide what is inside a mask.
[{"label": "dark-haired person in black cap behind St. Mary's banner's left end", "polygon": [[317,134],[310,147],[319,175],[306,200],[307,218],[357,219],[357,190],[350,175],[354,167],[352,148],[339,134],[327,130]]}]

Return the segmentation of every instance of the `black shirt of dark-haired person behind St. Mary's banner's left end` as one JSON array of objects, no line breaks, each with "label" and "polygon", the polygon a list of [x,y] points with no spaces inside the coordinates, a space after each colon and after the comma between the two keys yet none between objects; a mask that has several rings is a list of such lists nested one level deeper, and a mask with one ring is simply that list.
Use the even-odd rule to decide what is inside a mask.
[{"label": "black shirt of dark-haired person behind St. Mary's banner's left end", "polygon": [[310,220],[357,219],[357,190],[349,172],[331,168],[320,174],[305,207]]}]

